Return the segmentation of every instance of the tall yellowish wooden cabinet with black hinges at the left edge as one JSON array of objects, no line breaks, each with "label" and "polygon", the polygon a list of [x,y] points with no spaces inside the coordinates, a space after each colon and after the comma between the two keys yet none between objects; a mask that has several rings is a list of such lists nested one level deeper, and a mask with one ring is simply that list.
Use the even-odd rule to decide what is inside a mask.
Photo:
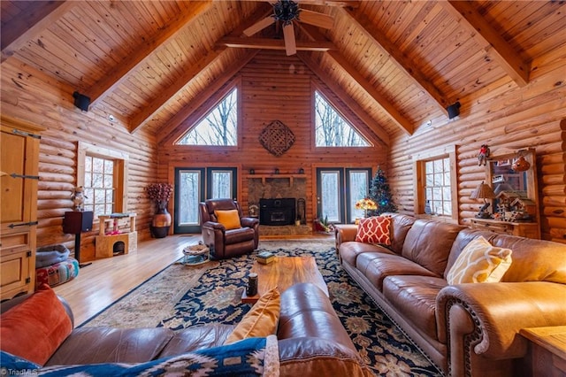
[{"label": "tall yellowish wooden cabinet with black hinges at the left edge", "polygon": [[2,115],[0,138],[0,299],[34,291],[39,132]]}]

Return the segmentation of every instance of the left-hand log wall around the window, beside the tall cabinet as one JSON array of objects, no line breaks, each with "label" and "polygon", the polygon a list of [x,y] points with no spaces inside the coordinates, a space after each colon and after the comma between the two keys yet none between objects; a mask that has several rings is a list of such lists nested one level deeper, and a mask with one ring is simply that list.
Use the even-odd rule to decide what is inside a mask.
[{"label": "left-hand log wall around the window, beside the tall cabinet", "polygon": [[[71,196],[77,178],[77,142],[119,150],[128,155],[127,212],[137,213],[140,238],[149,236],[151,208],[143,188],[157,181],[155,137],[143,131],[130,135],[103,112],[81,112],[73,106],[69,88],[11,58],[2,65],[2,112],[47,127],[39,157],[37,246],[63,243],[74,249],[74,235],[63,233],[64,213],[73,210]],[[81,239],[80,259],[95,258],[97,221]]]}]

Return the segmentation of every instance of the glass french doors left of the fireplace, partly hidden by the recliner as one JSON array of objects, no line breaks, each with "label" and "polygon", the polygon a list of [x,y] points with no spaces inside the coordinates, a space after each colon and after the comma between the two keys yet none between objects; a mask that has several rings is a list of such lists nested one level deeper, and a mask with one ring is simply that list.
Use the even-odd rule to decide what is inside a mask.
[{"label": "glass french doors left of the fireplace, partly hidden by the recliner", "polygon": [[210,198],[235,198],[235,167],[178,167],[175,169],[175,233],[200,233],[199,203]]}]

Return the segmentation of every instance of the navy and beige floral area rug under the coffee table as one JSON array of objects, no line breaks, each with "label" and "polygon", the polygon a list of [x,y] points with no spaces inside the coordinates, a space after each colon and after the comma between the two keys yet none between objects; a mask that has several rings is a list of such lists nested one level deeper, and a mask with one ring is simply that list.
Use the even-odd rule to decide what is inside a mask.
[{"label": "navy and beige floral area rug under the coffee table", "polygon": [[[342,270],[333,240],[262,241],[256,252],[262,250],[270,250],[278,256],[316,258],[334,310],[363,360],[374,373],[382,376],[440,375],[430,361],[379,310],[371,297]],[[200,269],[171,265],[83,326],[157,326],[182,329],[210,322],[236,324],[251,308],[250,304],[241,304],[240,297],[256,252],[211,262]],[[198,276],[196,281],[195,276]],[[185,281],[187,277],[194,282]],[[173,291],[177,289],[171,286],[174,280],[183,280],[181,286],[189,287]],[[148,289],[145,286],[156,288]],[[171,304],[173,301],[176,303]],[[159,306],[157,312],[148,311],[149,307],[156,305]]]}]

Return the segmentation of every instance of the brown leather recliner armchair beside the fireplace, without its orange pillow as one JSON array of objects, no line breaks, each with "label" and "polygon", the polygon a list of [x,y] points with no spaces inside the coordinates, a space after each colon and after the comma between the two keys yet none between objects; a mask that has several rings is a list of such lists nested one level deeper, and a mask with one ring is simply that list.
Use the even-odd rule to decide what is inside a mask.
[{"label": "brown leather recliner armchair beside the fireplace, without its orange pillow", "polygon": [[[259,219],[243,217],[240,204],[232,199],[208,199],[199,204],[203,242],[210,248],[210,258],[238,257],[257,249]],[[238,210],[241,227],[226,230],[215,211]]]}]

